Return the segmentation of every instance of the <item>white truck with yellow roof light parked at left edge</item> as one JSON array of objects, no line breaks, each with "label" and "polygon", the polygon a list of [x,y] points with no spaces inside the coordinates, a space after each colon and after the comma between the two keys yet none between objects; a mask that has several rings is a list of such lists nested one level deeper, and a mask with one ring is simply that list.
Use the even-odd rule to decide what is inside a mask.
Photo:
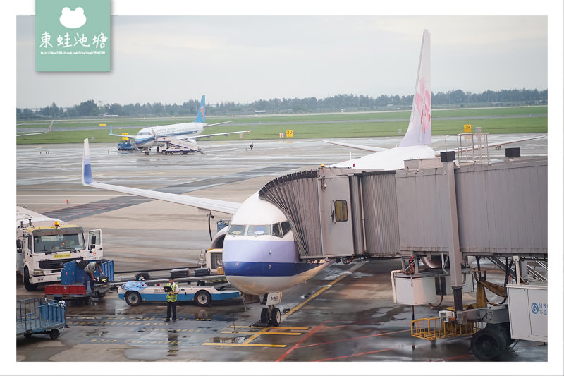
[{"label": "white truck with yellow roof light parked at left edge", "polygon": [[88,231],[87,239],[84,235],[80,226],[16,207],[16,271],[25,289],[60,282],[65,262],[102,258],[102,231]]}]

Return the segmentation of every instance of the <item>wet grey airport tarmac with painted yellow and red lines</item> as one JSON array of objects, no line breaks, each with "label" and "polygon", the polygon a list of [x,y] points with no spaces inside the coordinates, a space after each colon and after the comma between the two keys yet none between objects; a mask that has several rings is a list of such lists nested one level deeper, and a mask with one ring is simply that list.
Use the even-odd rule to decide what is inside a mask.
[{"label": "wet grey airport tarmac with painted yellow and red lines", "polygon": [[[490,142],[527,135],[491,135]],[[350,139],[361,145],[394,147],[398,138]],[[104,183],[190,193],[243,202],[264,183],[298,169],[315,168],[366,152],[321,140],[202,142],[206,154],[186,156],[118,152],[114,144],[91,144],[94,179]],[[444,138],[434,138],[443,149]],[[522,144],[522,156],[546,155],[547,140]],[[491,150],[503,159],[503,149]],[[329,156],[329,157],[328,157]],[[209,246],[208,218],[191,207],[83,187],[82,145],[18,145],[17,204],[85,229],[102,229],[104,257],[116,272],[194,266]],[[67,203],[68,200],[68,203]],[[216,220],[228,216],[214,214]],[[56,341],[34,335],[16,338],[18,363],[45,361],[203,361],[203,362],[475,362],[470,339],[443,339],[431,344],[410,336],[412,317],[436,317],[437,308],[393,303],[390,271],[398,260],[333,265],[312,280],[283,291],[280,327],[250,327],[259,319],[258,303],[241,298],[200,308],[178,305],[178,322],[164,323],[166,305],[130,307],[116,293],[90,305],[70,302],[69,327]],[[25,291],[20,278],[16,298],[42,296]],[[471,294],[465,303],[471,303]],[[546,362],[548,345],[518,341],[503,356],[511,362]],[[145,363],[144,366],[145,367]],[[152,370],[147,365],[146,370]],[[338,367],[338,366],[337,366]],[[370,365],[369,367],[378,367]],[[337,370],[334,368],[333,370]],[[266,368],[262,368],[266,371]],[[267,371],[266,371],[267,372]],[[264,372],[264,373],[266,373]],[[446,372],[455,373],[455,368]],[[223,373],[223,372],[221,372]],[[248,370],[247,374],[254,373]],[[276,372],[274,372],[276,373]],[[382,373],[382,372],[375,372]],[[396,373],[385,372],[384,373]],[[408,370],[400,373],[410,373]],[[437,370],[436,374],[441,374]]]}]

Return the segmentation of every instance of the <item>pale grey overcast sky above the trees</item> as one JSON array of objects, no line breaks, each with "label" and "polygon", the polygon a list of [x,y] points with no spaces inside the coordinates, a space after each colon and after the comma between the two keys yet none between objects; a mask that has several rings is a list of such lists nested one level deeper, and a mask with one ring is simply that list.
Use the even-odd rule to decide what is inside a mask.
[{"label": "pale grey overcast sky above the trees", "polygon": [[547,16],[112,16],[111,72],[35,72],[17,17],[16,107],[412,95],[422,32],[434,92],[548,87]]}]

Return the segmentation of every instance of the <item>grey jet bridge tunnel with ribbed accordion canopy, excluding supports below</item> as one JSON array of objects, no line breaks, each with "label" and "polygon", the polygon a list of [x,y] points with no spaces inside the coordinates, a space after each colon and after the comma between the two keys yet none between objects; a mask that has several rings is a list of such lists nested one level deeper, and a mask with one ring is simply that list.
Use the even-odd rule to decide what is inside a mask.
[{"label": "grey jet bridge tunnel with ribbed accordion canopy, excluding supports below", "polygon": [[397,171],[321,167],[281,176],[259,197],[285,212],[303,259],[463,255],[546,257],[546,157]]}]

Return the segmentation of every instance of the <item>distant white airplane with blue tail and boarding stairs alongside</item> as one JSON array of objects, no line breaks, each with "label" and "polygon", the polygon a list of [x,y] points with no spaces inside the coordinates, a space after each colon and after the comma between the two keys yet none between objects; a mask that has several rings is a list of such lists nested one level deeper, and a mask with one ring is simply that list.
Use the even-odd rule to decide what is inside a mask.
[{"label": "distant white airplane with blue tail and boarding stairs alongside", "polygon": [[198,138],[213,137],[216,135],[233,135],[236,133],[249,133],[249,131],[237,131],[237,132],[226,132],[226,133],[215,133],[212,135],[201,135],[204,128],[211,126],[219,126],[219,124],[233,123],[233,121],[223,121],[221,123],[207,124],[206,123],[206,96],[202,95],[202,100],[200,101],[200,109],[198,109],[198,115],[195,121],[192,123],[176,123],[169,124],[166,126],[154,126],[142,128],[137,135],[116,135],[113,133],[110,127],[110,135],[115,135],[118,137],[132,138],[135,142],[135,147],[138,150],[145,150],[146,153],[149,152],[150,147],[157,146],[157,152],[159,152],[159,145],[164,145],[164,142],[157,140],[157,138],[175,138],[176,140],[188,141],[195,150],[200,150],[197,147],[196,140]]}]

